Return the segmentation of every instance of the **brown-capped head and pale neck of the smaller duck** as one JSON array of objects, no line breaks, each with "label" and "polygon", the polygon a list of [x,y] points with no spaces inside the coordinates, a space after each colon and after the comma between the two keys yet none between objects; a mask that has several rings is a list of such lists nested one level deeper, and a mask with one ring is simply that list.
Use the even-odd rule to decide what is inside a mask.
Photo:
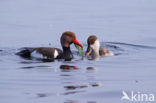
[{"label": "brown-capped head and pale neck of the smaller duck", "polygon": [[87,44],[85,55],[88,57],[91,54],[92,58],[99,57],[100,42],[98,38],[95,35],[91,35],[87,40]]}]

